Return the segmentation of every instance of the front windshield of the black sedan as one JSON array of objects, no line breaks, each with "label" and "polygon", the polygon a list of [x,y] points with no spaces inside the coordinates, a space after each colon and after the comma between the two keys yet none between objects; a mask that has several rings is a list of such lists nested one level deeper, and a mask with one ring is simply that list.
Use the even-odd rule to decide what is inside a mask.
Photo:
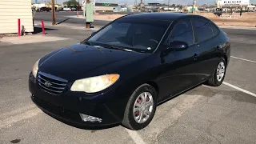
[{"label": "front windshield of the black sedan", "polygon": [[120,18],[98,31],[85,43],[151,53],[157,48],[169,25],[170,21]]}]

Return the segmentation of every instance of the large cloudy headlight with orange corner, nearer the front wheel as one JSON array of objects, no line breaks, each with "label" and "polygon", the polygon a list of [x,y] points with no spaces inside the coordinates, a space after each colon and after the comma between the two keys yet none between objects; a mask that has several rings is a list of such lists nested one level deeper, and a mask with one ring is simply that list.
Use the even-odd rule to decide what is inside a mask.
[{"label": "large cloudy headlight with orange corner, nearer the front wheel", "polygon": [[119,74],[106,74],[97,77],[78,79],[71,86],[71,91],[83,91],[86,93],[96,93],[105,90],[119,78]]}]

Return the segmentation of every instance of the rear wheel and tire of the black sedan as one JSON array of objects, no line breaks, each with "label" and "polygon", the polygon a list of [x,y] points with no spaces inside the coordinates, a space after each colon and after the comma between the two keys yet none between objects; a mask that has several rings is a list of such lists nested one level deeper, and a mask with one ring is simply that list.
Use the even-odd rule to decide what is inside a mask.
[{"label": "rear wheel and tire of the black sedan", "polygon": [[206,85],[208,86],[220,86],[224,81],[226,75],[226,61],[224,58],[218,62],[218,65],[214,69],[213,74],[211,77],[206,81]]}]

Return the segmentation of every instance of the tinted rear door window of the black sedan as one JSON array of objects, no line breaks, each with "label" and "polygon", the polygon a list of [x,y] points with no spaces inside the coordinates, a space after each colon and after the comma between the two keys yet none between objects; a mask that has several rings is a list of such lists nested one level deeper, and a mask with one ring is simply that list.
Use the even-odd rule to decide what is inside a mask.
[{"label": "tinted rear door window of the black sedan", "polygon": [[194,18],[195,31],[198,35],[198,42],[202,42],[206,39],[213,37],[213,30],[210,23],[202,18]]}]

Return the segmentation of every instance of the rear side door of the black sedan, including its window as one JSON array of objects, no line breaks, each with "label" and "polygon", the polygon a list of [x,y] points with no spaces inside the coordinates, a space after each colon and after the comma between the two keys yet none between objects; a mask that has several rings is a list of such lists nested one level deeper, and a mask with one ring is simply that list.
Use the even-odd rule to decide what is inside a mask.
[{"label": "rear side door of the black sedan, including its window", "polygon": [[[199,81],[205,81],[218,63],[218,28],[205,18],[193,18]],[[213,29],[214,28],[214,29]]]}]

